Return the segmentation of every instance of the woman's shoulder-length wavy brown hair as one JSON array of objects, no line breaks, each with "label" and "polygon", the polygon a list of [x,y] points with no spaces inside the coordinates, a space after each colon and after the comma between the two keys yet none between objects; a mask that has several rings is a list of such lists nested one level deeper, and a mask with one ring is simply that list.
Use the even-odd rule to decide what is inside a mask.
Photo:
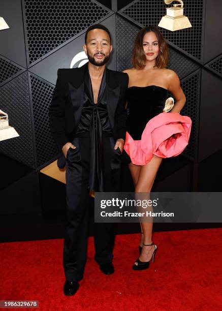
[{"label": "woman's shoulder-length wavy brown hair", "polygon": [[144,35],[149,32],[155,33],[159,45],[159,53],[156,57],[155,66],[158,68],[166,68],[169,63],[168,45],[160,30],[155,26],[144,27],[137,34],[133,47],[132,65],[137,69],[142,69],[146,65],[146,55],[143,50],[143,38]]}]

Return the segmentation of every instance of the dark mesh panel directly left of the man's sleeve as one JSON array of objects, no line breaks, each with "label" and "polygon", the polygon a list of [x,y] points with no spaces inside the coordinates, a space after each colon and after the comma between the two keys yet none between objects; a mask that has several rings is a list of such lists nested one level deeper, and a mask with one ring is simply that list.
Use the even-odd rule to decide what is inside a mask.
[{"label": "dark mesh panel directly left of the man's sleeve", "polygon": [[58,154],[58,148],[51,136],[49,128],[48,108],[54,87],[30,76],[33,99],[33,115],[36,138],[38,167],[47,163]]}]

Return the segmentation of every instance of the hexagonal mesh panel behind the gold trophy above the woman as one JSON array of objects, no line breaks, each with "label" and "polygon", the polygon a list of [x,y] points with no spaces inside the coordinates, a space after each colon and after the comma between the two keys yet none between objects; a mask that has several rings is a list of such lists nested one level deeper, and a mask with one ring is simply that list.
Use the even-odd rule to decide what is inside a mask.
[{"label": "hexagonal mesh panel behind the gold trophy above the woman", "polygon": [[[162,16],[166,15],[164,1],[139,0],[119,12],[129,16],[142,26],[157,26]],[[202,22],[203,0],[186,0],[184,15],[189,18],[192,26],[176,32],[160,28],[164,37],[197,59],[202,59]]]}]

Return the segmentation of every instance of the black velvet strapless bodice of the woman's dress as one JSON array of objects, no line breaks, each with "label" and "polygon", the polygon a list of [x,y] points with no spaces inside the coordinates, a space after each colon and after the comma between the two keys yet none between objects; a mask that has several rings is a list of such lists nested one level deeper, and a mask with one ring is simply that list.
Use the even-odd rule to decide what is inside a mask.
[{"label": "black velvet strapless bodice of the woman's dress", "polygon": [[[134,140],[141,140],[146,123],[163,112],[168,90],[161,86],[131,86],[127,90],[128,120],[126,131]],[[131,163],[129,155],[123,150],[123,162]]]}]

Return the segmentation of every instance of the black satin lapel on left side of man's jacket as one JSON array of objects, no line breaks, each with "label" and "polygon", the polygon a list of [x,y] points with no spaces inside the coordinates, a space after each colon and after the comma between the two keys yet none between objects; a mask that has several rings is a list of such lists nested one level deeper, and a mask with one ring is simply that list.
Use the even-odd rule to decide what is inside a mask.
[{"label": "black satin lapel on left side of man's jacket", "polygon": [[82,82],[82,84],[78,88],[75,88],[72,84],[69,83],[69,91],[72,105],[74,108],[73,111],[75,123],[77,125],[79,123],[82,113],[83,98],[84,98],[84,82]]}]

